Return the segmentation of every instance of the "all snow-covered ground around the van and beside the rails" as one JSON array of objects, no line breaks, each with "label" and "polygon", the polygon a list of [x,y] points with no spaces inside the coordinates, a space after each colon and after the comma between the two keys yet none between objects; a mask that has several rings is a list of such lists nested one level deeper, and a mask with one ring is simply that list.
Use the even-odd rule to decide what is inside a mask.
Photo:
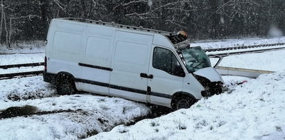
[{"label": "all snow-covered ground around the van and beside the rails", "polygon": [[[221,48],[278,42],[285,42],[285,37],[204,41],[199,45]],[[119,124],[150,113],[150,108],[121,98],[57,96],[42,76],[0,80],[0,116],[9,107],[31,105],[36,109],[31,115],[0,120],[0,139],[81,139],[98,132],[89,139],[285,139],[284,53],[228,56],[220,66],[277,72],[257,79],[223,76],[230,94],[202,99],[189,109],[130,126]],[[43,60],[44,53],[0,55],[0,65]]]}]

